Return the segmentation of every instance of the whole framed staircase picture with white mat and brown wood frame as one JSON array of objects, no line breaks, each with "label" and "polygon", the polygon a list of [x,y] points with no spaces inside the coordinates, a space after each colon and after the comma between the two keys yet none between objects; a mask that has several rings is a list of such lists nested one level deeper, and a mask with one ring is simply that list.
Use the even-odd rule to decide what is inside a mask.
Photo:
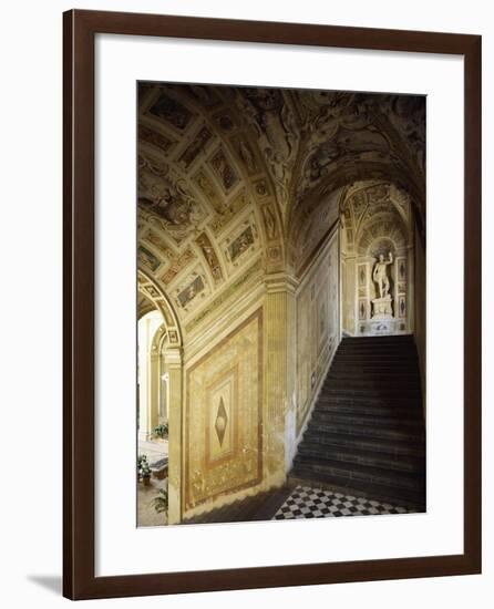
[{"label": "whole framed staircase picture with white mat and brown wood frame", "polygon": [[64,595],[481,569],[481,39],[64,14]]}]

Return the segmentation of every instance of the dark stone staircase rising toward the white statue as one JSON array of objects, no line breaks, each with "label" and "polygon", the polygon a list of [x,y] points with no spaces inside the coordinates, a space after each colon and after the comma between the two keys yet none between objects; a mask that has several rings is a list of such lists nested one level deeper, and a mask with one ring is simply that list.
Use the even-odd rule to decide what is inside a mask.
[{"label": "dark stone staircase rising toward the white statue", "polygon": [[341,341],[289,483],[425,509],[425,427],[413,337]]}]

